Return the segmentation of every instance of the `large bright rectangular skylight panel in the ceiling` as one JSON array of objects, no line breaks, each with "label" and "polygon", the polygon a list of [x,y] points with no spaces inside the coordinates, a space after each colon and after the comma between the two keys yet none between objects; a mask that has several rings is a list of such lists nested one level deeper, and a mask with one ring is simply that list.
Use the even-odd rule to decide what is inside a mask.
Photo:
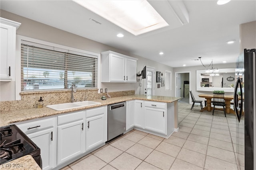
[{"label": "large bright rectangular skylight panel in the ceiling", "polygon": [[134,35],[168,26],[146,0],[73,1]]}]

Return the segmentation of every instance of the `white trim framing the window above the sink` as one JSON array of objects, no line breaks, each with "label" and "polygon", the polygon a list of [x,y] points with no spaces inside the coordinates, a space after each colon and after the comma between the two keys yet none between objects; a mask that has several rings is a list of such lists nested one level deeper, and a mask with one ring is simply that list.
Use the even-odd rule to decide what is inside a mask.
[{"label": "white trim framing the window above the sink", "polygon": [[[22,40],[24,41],[30,41],[30,42],[33,42],[33,43],[38,43],[38,44],[42,44],[42,45],[48,45],[48,46],[53,46],[53,47],[57,47],[57,48],[61,48],[61,49],[67,49],[67,50],[71,50],[71,51],[76,51],[76,52],[80,52],[80,53],[87,53],[89,55],[93,55],[95,57],[98,58],[98,93],[100,93],[100,88],[101,88],[101,83],[100,83],[100,80],[101,80],[101,75],[100,75],[100,72],[101,72],[101,67],[100,67],[100,61],[101,61],[101,58],[100,58],[100,54],[98,53],[93,53],[93,52],[90,52],[90,51],[85,51],[85,50],[81,50],[81,49],[76,49],[76,48],[72,48],[72,47],[67,47],[67,46],[64,46],[64,45],[59,45],[59,44],[55,44],[55,43],[50,43],[50,42],[47,42],[47,41],[42,41],[42,40],[39,40],[39,39],[34,39],[34,38],[30,38],[30,37],[25,37],[25,36],[22,36],[22,35],[17,35],[16,36],[16,63],[15,63],[15,66],[16,66],[16,77],[15,77],[15,100],[21,100],[21,96],[20,96],[20,92],[21,92],[21,75],[20,75],[20,70],[21,70],[21,43],[22,43]],[[54,90],[66,90],[66,89],[54,89]],[[42,90],[42,91],[52,91],[52,90]]]}]

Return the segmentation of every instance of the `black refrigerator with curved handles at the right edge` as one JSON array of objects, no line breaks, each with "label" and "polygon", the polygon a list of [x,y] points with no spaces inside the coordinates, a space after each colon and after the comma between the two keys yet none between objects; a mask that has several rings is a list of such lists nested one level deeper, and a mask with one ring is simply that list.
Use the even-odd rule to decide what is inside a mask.
[{"label": "black refrigerator with curved handles at the right edge", "polygon": [[[244,131],[244,142],[238,142],[236,152],[244,145],[245,170],[256,169],[256,49],[244,49],[236,67],[234,110],[237,116],[237,139]],[[244,100],[243,100],[244,98]],[[243,117],[244,115],[244,117]],[[239,156],[238,156],[239,157]],[[243,162],[238,158],[238,161]]]}]

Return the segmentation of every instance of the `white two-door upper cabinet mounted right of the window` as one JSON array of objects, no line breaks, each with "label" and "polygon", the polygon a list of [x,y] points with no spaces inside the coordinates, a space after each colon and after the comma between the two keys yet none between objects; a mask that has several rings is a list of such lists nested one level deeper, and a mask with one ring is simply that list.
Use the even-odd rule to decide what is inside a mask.
[{"label": "white two-door upper cabinet mounted right of the window", "polygon": [[105,51],[101,55],[101,82],[136,82],[138,59],[113,51]]}]

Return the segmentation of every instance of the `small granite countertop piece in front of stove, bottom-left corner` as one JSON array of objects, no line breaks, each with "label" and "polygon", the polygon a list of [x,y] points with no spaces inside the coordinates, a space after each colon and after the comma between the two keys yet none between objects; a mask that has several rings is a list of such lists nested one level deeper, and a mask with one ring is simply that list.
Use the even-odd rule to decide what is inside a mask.
[{"label": "small granite countertop piece in front of stove, bottom-left corner", "polygon": [[31,155],[25,155],[0,165],[1,170],[41,170]]}]

